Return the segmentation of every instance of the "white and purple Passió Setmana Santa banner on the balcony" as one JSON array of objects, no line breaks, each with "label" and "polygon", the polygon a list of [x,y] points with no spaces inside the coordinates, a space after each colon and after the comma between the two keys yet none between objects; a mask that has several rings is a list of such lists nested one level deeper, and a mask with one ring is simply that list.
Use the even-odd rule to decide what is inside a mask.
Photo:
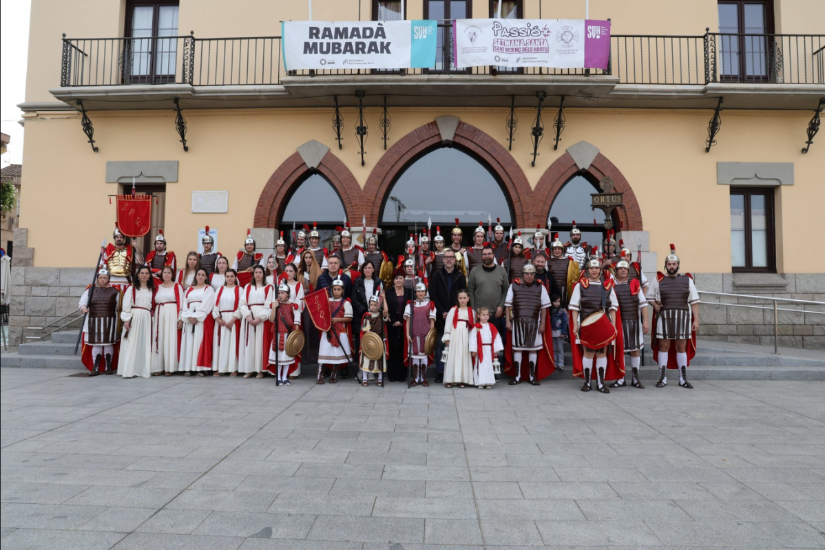
[{"label": "white and purple Passi\u00f3 Setmana Santa banner on the balcony", "polygon": [[592,19],[456,19],[459,68],[607,68],[610,21]]}]

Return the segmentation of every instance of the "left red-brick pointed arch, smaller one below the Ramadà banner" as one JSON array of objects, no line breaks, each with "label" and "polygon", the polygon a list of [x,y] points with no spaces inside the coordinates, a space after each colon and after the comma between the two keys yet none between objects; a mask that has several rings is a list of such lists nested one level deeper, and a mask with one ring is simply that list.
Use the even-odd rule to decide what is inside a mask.
[{"label": "left red-brick pointed arch, smaller one below the Ramad\u00e0 banner", "polygon": [[[361,217],[361,186],[356,177],[340,158],[328,151],[318,167],[313,169],[306,165],[300,153],[290,155],[275,172],[272,172],[255,209],[256,228],[277,228],[284,215],[286,204],[293,191],[312,174],[322,174],[332,183],[344,205],[347,219]],[[310,220],[311,221],[311,220]]]}]

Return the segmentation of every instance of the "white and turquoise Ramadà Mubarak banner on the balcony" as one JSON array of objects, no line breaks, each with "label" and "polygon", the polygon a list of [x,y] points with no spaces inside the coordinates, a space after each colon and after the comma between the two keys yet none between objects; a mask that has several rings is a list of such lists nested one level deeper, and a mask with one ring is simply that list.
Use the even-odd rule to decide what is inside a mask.
[{"label": "white and turquoise Ramad\u00e0 Mubarak banner on the balcony", "polygon": [[284,65],[426,68],[436,64],[437,21],[283,21]]}]

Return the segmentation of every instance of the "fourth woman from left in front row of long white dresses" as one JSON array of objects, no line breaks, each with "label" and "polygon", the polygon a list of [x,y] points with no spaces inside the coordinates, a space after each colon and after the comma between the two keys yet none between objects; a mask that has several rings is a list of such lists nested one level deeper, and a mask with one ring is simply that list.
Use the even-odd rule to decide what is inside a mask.
[{"label": "fourth woman from left in front row of long white dresses", "polygon": [[[222,258],[223,259],[223,258]],[[212,341],[213,376],[230,373],[238,376],[238,341],[241,336],[241,288],[235,270],[227,270],[226,284],[214,299],[214,338]]]}]

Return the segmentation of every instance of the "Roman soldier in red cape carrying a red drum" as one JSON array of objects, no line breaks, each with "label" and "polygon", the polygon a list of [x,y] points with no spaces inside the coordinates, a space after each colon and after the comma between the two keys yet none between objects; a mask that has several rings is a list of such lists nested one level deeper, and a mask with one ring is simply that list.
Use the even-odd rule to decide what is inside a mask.
[{"label": "Roman soldier in red cape carrying a red drum", "polygon": [[[593,247],[592,256],[586,268],[598,267],[601,276],[601,260],[598,248]],[[593,362],[596,362],[597,387],[601,393],[610,393],[605,380],[618,380],[625,376],[625,349],[622,337],[621,313],[619,300],[616,298],[612,280],[593,280],[589,275],[582,276],[570,296],[570,327],[577,316],[579,334],[571,331],[570,347],[573,351],[573,376],[584,378],[582,392],[590,391]],[[610,323],[610,311],[615,312],[615,322]],[[595,317],[592,317],[595,316]],[[601,318],[600,318],[601,317]],[[598,322],[594,322],[598,320]],[[611,328],[612,326],[612,328]],[[596,332],[593,336],[592,332]],[[601,337],[603,336],[603,340]],[[587,341],[587,344],[582,341]],[[594,340],[595,339],[595,340]],[[601,341],[600,341],[601,340]],[[606,353],[606,357],[584,356],[585,349]]]}]

